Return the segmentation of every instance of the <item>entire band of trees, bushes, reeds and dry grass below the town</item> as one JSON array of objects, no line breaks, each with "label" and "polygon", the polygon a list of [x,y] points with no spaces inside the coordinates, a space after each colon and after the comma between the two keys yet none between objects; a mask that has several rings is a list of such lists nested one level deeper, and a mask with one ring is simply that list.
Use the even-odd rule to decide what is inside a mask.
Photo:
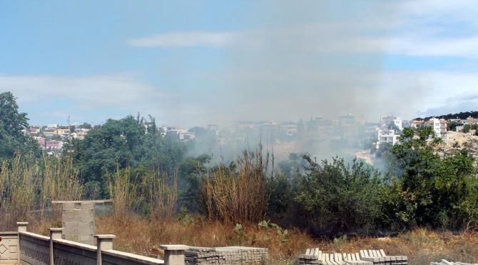
[{"label": "entire band of trees, bushes, reeds and dry grass below the town", "polygon": [[464,151],[437,154],[441,139],[431,127],[404,129],[400,144],[378,151],[389,169],[381,173],[362,161],[317,162],[306,154],[276,166],[261,146],[211,164],[206,154],[186,156],[187,146],[139,115],[96,126],[56,158],[41,155],[21,132],[26,114],[11,94],[0,95],[0,113],[0,214],[7,216],[0,229],[54,220],[52,200],[81,198],[114,200],[113,222],[100,223],[100,231],[121,234],[137,222],[151,227],[151,244],[268,246],[280,258],[319,238],[345,246],[343,234],[412,231],[401,236],[406,241],[419,227],[466,235],[478,228],[475,161]]}]

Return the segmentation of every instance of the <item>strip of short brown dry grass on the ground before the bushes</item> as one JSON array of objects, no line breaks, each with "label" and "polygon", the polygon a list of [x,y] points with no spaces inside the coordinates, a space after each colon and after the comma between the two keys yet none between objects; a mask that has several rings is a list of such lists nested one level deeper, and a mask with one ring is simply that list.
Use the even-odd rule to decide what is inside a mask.
[{"label": "strip of short brown dry grass on the ground before the bushes", "polygon": [[[224,222],[195,219],[181,221],[148,221],[136,216],[126,227],[106,216],[96,220],[97,232],[116,234],[115,248],[146,256],[156,256],[160,244],[189,246],[258,246],[269,249],[272,264],[293,264],[296,254],[310,247],[323,251],[357,252],[359,249],[384,249],[387,254],[407,255],[409,264],[423,265],[431,261],[477,262],[478,235],[416,229],[386,239],[360,237],[345,241],[316,241],[297,230],[288,231],[287,240],[273,228],[260,229],[256,224],[244,225],[242,231]],[[242,233],[241,233],[242,232]]]}]

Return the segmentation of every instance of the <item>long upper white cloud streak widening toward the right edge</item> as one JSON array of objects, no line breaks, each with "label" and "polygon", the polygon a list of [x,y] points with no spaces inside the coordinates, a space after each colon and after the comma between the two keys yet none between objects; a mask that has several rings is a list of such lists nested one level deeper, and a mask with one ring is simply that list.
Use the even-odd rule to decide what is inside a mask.
[{"label": "long upper white cloud streak widening toward the right edge", "polygon": [[364,20],[315,21],[245,31],[177,31],[130,39],[128,44],[476,58],[478,35],[444,37],[442,33],[464,27],[476,32],[477,16],[474,1],[413,0],[377,4],[376,14]]}]

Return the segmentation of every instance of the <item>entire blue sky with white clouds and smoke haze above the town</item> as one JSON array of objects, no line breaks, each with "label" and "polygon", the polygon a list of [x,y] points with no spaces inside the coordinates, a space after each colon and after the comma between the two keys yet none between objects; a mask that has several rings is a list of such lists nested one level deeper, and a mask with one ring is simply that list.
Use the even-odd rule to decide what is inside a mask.
[{"label": "entire blue sky with white clouds and smoke haze above the town", "polygon": [[476,111],[475,1],[0,1],[30,124],[190,127]]}]

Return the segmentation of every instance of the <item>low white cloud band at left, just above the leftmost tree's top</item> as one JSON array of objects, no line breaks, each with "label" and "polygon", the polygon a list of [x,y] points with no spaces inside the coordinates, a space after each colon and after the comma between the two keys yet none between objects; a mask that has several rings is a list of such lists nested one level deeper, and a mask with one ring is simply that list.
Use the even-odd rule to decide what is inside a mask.
[{"label": "low white cloud band at left, just above the leftmost tree's top", "polygon": [[128,74],[106,76],[0,75],[0,91],[11,91],[20,101],[73,100],[81,106],[133,106],[144,99],[168,94]]}]

